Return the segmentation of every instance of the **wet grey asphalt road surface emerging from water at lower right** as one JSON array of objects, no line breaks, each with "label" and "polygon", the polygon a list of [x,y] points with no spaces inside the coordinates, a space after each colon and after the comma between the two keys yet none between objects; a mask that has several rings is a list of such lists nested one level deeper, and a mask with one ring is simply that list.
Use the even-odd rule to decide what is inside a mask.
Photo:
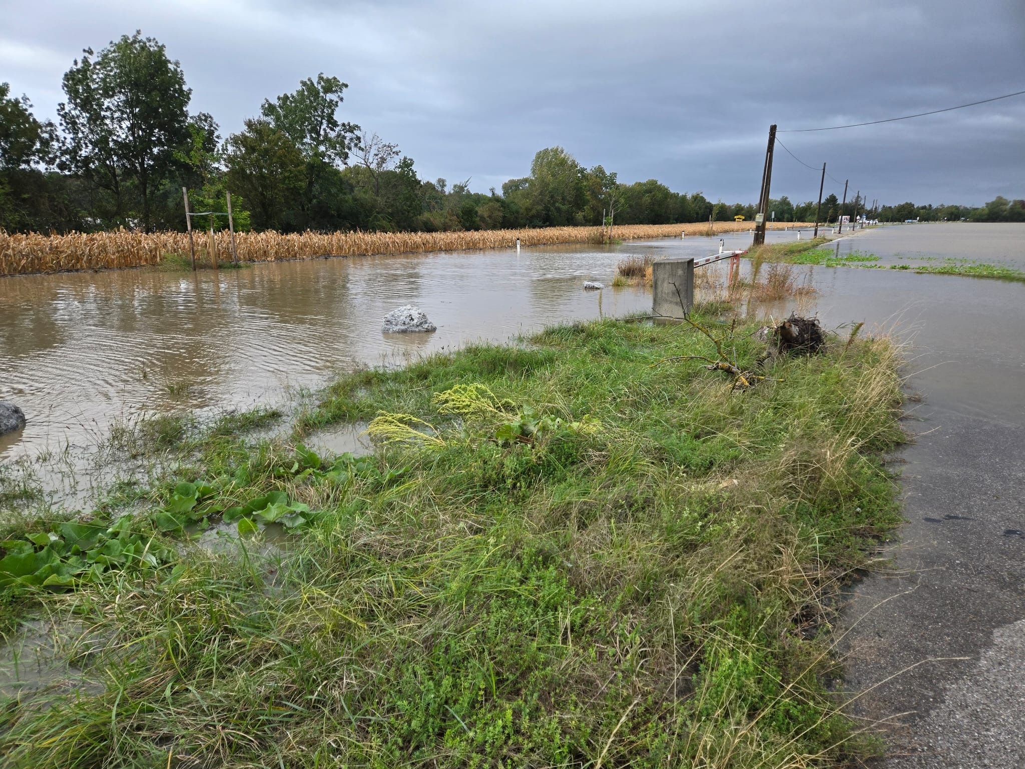
[{"label": "wet grey asphalt road surface emerging from water at lower right", "polygon": [[1025,428],[921,413],[893,568],[845,612],[853,713],[889,733],[873,767],[1025,767]]}]

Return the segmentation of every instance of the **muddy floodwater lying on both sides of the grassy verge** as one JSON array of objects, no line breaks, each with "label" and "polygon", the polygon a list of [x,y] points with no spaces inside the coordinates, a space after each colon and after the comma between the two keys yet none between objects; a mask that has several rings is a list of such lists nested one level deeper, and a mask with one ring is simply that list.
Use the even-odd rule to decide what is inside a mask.
[{"label": "muddy floodwater lying on both sides of the grassy verge", "polygon": [[[804,237],[809,237],[805,233]],[[749,233],[725,236],[727,248]],[[772,232],[773,241],[796,238]],[[842,252],[976,258],[1025,267],[1025,226],[915,225],[858,232]],[[102,438],[139,413],[217,412],[282,403],[337,371],[401,363],[476,340],[504,340],[561,321],[645,312],[650,290],[584,291],[612,282],[627,254],[705,255],[719,238],[550,246],[0,279],[0,400],[29,418],[0,437],[0,458]],[[711,268],[715,269],[715,268]],[[1025,409],[1025,286],[881,270],[799,268],[827,325],[891,325],[915,342],[917,381],[951,407],[1019,418]],[[433,334],[384,334],[381,318],[412,302]],[[790,302],[792,305],[792,302]],[[766,308],[788,311],[786,302]]]}]

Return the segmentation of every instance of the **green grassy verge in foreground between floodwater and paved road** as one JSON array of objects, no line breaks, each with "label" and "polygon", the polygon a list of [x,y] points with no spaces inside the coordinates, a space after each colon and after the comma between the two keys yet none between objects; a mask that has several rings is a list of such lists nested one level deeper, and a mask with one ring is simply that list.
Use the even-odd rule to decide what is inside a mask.
[{"label": "green grassy verge in foreground between floodwater and paved road", "polygon": [[[729,340],[741,366],[754,328]],[[105,689],[6,702],[0,755],[813,767],[870,750],[822,684],[827,625],[803,628],[899,520],[880,462],[903,438],[899,357],[846,342],[743,393],[659,363],[708,355],[700,334],[612,321],[344,377],[308,424],[430,426],[378,444],[393,480],[314,484],[309,452],[220,444],[182,480],[244,470],[245,493],[322,515],[270,564],[187,548],[42,595],[108,639],[88,662]]]}]

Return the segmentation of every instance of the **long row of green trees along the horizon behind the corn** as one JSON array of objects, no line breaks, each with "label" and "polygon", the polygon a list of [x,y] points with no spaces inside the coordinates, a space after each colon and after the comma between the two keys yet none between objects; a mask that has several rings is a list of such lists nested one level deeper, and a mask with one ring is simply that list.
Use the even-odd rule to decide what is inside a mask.
[{"label": "long row of green trees along the horizon behind the corn", "polygon": [[[187,187],[193,210],[223,211],[231,190],[245,230],[478,230],[550,225],[729,220],[751,204],[712,203],[656,179],[624,185],[601,165],[585,168],[561,147],[534,156],[530,175],[501,192],[473,193],[417,176],[396,144],[339,118],[347,85],[323,74],[266,99],[258,116],[222,139],[165,47],[136,32],[99,53],[83,51],[64,76],[57,123],[40,121],[27,96],[0,83],[0,228],[95,231],[180,230]],[[864,210],[861,201],[822,202],[824,221]],[[816,203],[774,199],[777,221],[811,220]],[[884,206],[883,220],[920,217],[1025,219],[1025,204],[998,198],[982,208]],[[222,222],[218,219],[215,226]]]}]

